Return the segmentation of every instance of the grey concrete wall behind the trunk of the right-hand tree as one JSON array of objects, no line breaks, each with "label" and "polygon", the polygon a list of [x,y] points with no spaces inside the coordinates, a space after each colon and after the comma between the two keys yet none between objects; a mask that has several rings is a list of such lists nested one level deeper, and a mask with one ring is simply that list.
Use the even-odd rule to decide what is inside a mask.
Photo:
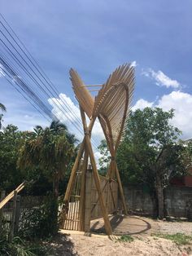
[{"label": "grey concrete wall behind the trunk of the right-hand tree", "polygon": [[[129,211],[153,214],[153,203],[146,188],[129,186],[124,188]],[[172,186],[165,191],[168,214],[174,217],[192,218],[192,187]]]}]

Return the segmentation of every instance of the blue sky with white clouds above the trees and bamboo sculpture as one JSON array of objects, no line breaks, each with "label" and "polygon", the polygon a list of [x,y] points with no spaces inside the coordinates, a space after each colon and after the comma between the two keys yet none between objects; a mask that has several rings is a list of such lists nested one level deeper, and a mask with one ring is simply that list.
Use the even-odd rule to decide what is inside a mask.
[{"label": "blue sky with white clouds above the trees and bamboo sculpture", "polygon": [[[118,65],[133,62],[133,109],[175,108],[172,123],[184,139],[192,137],[190,0],[1,0],[0,12],[75,111],[69,68],[86,84],[99,84]],[[7,106],[4,126],[25,130],[47,124],[4,77],[0,86],[0,102]]]}]

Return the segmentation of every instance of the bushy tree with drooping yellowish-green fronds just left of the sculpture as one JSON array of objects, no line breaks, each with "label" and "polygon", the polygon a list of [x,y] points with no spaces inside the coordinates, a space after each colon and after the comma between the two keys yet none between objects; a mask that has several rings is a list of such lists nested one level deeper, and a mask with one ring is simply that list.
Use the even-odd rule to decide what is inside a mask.
[{"label": "bushy tree with drooping yellowish-green fronds just left of the sculpture", "polygon": [[28,136],[20,148],[18,166],[21,169],[39,168],[43,171],[51,179],[54,195],[58,197],[59,180],[63,179],[75,148],[64,132],[66,126],[62,130],[53,122],[51,125],[45,129],[41,126],[35,127],[33,135]]}]

